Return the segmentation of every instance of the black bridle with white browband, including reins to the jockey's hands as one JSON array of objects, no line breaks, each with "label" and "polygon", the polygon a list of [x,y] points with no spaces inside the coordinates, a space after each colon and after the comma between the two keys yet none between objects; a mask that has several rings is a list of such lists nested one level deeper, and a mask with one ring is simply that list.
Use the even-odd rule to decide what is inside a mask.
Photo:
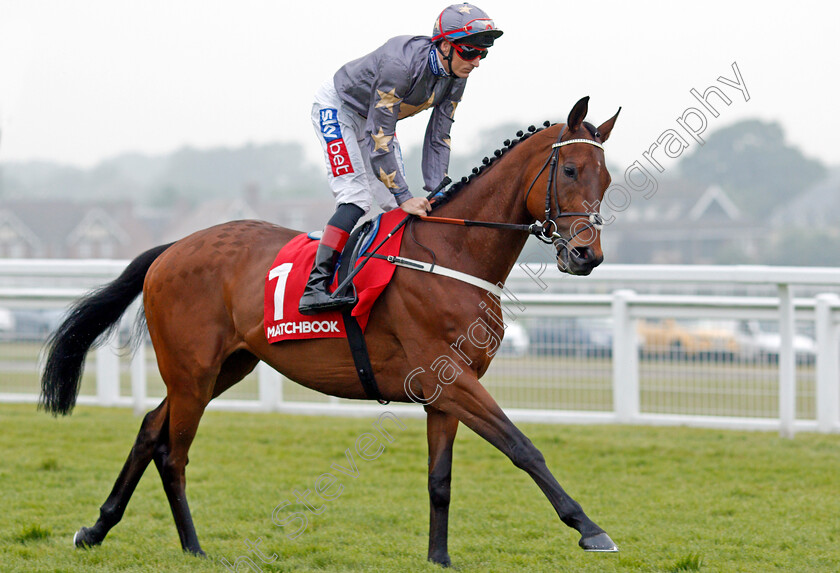
[{"label": "black bridle with white browband, including reins to the jockey's hands", "polygon": [[[566,141],[562,141],[563,135],[566,133],[567,126],[564,124],[563,128],[560,130],[560,135],[557,136],[557,141],[551,145],[551,154],[545,160],[542,168],[540,168],[539,172],[537,173],[534,180],[531,182],[531,185],[528,186],[528,191],[525,193],[525,208],[527,210],[528,205],[528,197],[531,194],[531,191],[536,185],[537,180],[540,176],[548,169],[548,184],[546,185],[545,190],[545,221],[537,220],[530,225],[519,225],[515,223],[496,223],[490,221],[471,221],[468,219],[450,219],[446,217],[429,217],[429,216],[422,216],[420,217],[421,221],[427,221],[429,223],[447,223],[450,225],[463,225],[466,227],[489,227],[491,229],[509,229],[515,231],[527,231],[528,233],[534,235],[540,241],[546,244],[553,244],[559,251],[560,248],[566,247],[571,241],[574,240],[579,234],[588,231],[590,229],[597,229],[600,230],[604,226],[604,219],[600,213],[595,212],[563,212],[560,209],[560,191],[557,185],[557,166],[560,163],[560,148],[565,147],[566,145],[571,145],[573,143],[588,143],[589,145],[594,145],[599,149],[604,149],[604,146],[594,141],[592,139],[567,139]],[[531,128],[533,131],[533,128]],[[449,199],[450,191],[444,193],[436,194],[432,199],[432,207],[436,207],[441,203],[446,202]],[[554,204],[557,207],[557,215],[552,215],[552,206],[551,206],[551,196],[554,195]],[[586,217],[587,223],[586,225],[578,230],[575,230],[571,236],[567,239],[563,237],[558,232],[557,226],[557,219],[561,217]]]}]

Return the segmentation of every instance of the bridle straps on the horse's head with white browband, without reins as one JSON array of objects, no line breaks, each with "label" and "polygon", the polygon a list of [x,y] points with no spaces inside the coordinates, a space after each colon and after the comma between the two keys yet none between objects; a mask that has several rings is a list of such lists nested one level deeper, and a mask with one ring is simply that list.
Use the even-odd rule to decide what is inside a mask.
[{"label": "bridle straps on the horse's head with white browband, without reins", "polygon": [[[540,178],[540,175],[548,168],[548,184],[546,185],[545,190],[545,221],[537,221],[531,228],[529,232],[537,237],[540,241],[547,244],[554,244],[557,247],[561,246],[568,246],[569,242],[572,241],[575,237],[577,237],[580,233],[584,231],[588,231],[589,229],[597,229],[600,230],[604,226],[604,218],[601,217],[600,213],[594,212],[585,212],[585,213],[575,213],[575,212],[567,212],[564,213],[560,209],[560,192],[557,189],[557,165],[560,163],[558,160],[560,158],[560,148],[565,145],[571,145],[573,143],[588,143],[589,145],[594,145],[595,147],[603,150],[604,146],[594,141],[592,139],[567,139],[566,141],[561,141],[563,139],[563,135],[566,133],[566,125],[563,126],[563,129],[560,130],[560,135],[557,136],[557,141],[551,145],[551,155],[548,156],[548,159],[545,160],[540,171],[537,173],[537,176],[534,177],[534,180],[531,182],[531,185],[528,187],[528,192],[525,193],[525,205],[527,210],[528,204],[528,197],[531,194],[531,189],[534,188],[534,185],[537,182],[537,179]],[[557,205],[557,215],[554,217],[551,216],[551,195],[552,192],[554,194],[554,204]],[[575,231],[568,239],[560,235],[557,232],[557,219],[560,217],[586,217],[588,223],[582,229]]]}]

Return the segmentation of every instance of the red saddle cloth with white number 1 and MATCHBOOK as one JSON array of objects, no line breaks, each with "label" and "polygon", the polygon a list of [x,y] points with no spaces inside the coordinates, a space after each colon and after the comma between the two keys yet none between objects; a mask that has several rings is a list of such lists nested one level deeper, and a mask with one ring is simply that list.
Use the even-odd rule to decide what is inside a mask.
[{"label": "red saddle cloth with white number 1 and MATCHBOOK", "polygon": [[[371,242],[362,238],[370,246],[376,247],[394,227],[405,217],[402,209],[394,209],[380,215],[376,236]],[[400,228],[393,237],[377,251],[380,255],[399,255],[402,233]],[[338,311],[327,311],[316,315],[304,315],[298,312],[298,303],[303,295],[303,288],[309,279],[318,241],[306,233],[298,235],[280,249],[274,264],[271,265],[265,279],[265,336],[270,343],[282,340],[302,340],[308,338],[346,338],[344,320]],[[364,251],[362,251],[364,252]],[[359,258],[358,262],[363,261]],[[395,267],[388,261],[370,259],[353,278],[359,301],[353,308],[353,316],[364,331],[367,326],[373,303],[388,286],[394,275]],[[333,282],[332,288],[337,286]]]}]

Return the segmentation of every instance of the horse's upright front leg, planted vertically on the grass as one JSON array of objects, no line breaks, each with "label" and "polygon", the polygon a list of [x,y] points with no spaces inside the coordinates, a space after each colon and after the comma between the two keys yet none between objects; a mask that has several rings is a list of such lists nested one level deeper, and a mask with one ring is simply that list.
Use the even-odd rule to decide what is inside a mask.
[{"label": "horse's upright front leg, planted vertically on the grass", "polygon": [[452,443],[458,418],[426,407],[429,441],[429,561],[448,567],[449,492],[452,479]]}]

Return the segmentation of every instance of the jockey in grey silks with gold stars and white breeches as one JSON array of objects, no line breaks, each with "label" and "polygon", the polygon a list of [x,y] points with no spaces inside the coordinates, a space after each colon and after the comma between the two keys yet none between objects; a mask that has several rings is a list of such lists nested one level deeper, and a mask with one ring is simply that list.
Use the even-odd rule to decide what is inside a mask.
[{"label": "jockey in grey silks with gold stars and white breeches", "polygon": [[324,228],[300,312],[315,314],[353,304],[327,289],[350,231],[373,200],[425,215],[429,201],[405,182],[397,120],[427,108],[432,115],[423,143],[424,189],[434,190],[449,168],[449,130],[467,78],[502,35],[472,4],[454,4],[435,20],[432,36],[391,38],[344,65],[315,94],[312,124],[324,150],[338,208]]}]

